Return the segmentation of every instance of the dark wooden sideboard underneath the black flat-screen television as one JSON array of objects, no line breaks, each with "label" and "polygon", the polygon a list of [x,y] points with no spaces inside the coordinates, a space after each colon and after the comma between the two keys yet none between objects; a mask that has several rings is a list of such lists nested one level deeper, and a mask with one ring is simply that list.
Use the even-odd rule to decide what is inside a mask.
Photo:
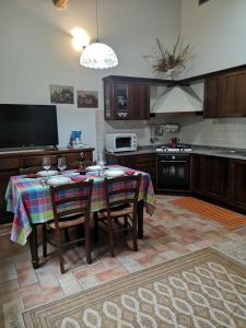
[{"label": "dark wooden sideboard underneath the black flat-screen television", "polygon": [[[12,175],[19,175],[20,168],[42,166],[43,157],[49,156],[51,165],[57,166],[58,157],[66,157],[68,166],[78,162],[81,151],[86,161],[93,161],[93,148],[86,149],[33,149],[0,152],[0,224],[12,221],[10,213],[5,212],[5,189]],[[4,214],[5,213],[5,214]]]}]

